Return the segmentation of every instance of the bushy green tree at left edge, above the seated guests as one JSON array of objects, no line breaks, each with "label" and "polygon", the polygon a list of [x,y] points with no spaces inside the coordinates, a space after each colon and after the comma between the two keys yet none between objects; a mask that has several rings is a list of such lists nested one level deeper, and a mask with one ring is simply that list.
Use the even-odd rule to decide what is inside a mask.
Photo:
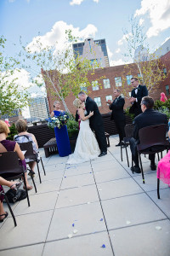
[{"label": "bushy green tree at left edge, above the seated guests", "polygon": [[26,90],[19,90],[17,78],[13,78],[15,69],[19,62],[12,57],[4,55],[6,39],[0,37],[0,116],[12,114],[15,109],[27,106]]}]

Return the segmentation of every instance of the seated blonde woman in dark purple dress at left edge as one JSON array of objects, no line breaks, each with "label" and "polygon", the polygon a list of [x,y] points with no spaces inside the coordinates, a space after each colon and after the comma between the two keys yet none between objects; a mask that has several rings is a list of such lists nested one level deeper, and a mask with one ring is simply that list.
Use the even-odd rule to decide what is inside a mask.
[{"label": "seated blonde woman in dark purple dress at left edge", "polygon": [[[0,153],[4,153],[4,152],[7,152],[7,151],[16,152],[18,154],[18,157],[19,157],[20,165],[24,166],[25,171],[26,171],[26,161],[25,161],[25,158],[24,158],[24,154],[20,150],[19,144],[7,140],[9,132],[10,131],[8,129],[8,125],[5,122],[3,122],[2,120],[0,120]],[[26,188],[28,190],[31,190],[32,186],[28,183],[26,172],[25,172],[25,177],[26,177]]]}]

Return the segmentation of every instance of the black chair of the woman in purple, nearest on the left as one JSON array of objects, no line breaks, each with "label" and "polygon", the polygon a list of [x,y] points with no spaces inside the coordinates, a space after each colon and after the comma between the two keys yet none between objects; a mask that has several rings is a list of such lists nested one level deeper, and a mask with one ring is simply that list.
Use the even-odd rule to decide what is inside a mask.
[{"label": "black chair of the woman in purple, nearest on the left", "polygon": [[[14,151],[8,151],[0,153],[0,176],[6,180],[15,180],[18,178],[23,178],[25,188],[26,188],[26,178],[24,166],[20,166],[18,154]],[[26,198],[28,202],[28,207],[30,207],[30,200],[28,196],[28,190],[26,188]]]}]

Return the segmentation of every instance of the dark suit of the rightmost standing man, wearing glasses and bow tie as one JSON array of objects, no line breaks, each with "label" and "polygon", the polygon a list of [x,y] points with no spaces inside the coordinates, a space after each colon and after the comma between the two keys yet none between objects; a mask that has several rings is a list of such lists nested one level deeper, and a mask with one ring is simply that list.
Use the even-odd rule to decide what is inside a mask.
[{"label": "dark suit of the rightmost standing man, wearing glasses and bow tie", "polygon": [[133,105],[129,109],[129,113],[134,113],[134,115],[137,116],[137,115],[139,115],[139,113],[142,113],[140,103],[144,96],[148,96],[148,90],[145,85],[140,85],[140,84],[138,86],[137,94],[135,93],[135,90],[136,90],[136,88],[134,88],[131,91],[131,97],[136,98],[137,102],[133,102]]}]

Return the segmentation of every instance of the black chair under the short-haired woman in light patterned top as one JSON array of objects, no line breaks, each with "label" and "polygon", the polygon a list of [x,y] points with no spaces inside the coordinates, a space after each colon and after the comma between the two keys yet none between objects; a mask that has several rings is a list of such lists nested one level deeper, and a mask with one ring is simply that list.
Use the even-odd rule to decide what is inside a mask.
[{"label": "black chair under the short-haired woman in light patterned top", "polygon": [[[35,154],[33,152],[33,147],[32,147],[32,143],[31,142],[28,142],[28,143],[19,143],[20,145],[20,149],[22,151],[26,151],[26,154],[25,154],[25,159],[26,160],[30,160],[29,162],[26,162],[26,164],[29,164],[31,161],[36,161],[37,163],[37,172],[38,172],[38,176],[39,176],[39,180],[40,180],[40,183],[42,183],[42,179],[41,179],[41,176],[40,176],[40,170],[39,170],[39,166],[38,166],[38,158],[37,158],[37,154]],[[42,157],[40,157],[40,160],[41,160],[41,163],[42,163]],[[42,163],[42,169],[43,169],[43,172],[44,172],[44,175],[46,175],[45,173],[45,169],[44,169],[44,166],[43,166],[43,163]],[[35,183],[34,183],[35,184]]]}]

